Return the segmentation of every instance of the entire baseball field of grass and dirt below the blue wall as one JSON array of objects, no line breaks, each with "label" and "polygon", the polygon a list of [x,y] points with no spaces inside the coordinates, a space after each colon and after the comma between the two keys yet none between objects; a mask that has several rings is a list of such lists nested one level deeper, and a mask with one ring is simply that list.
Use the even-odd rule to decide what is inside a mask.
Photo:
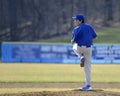
[{"label": "entire baseball field of grass and dirt below the blue wall", "polygon": [[1,63],[0,96],[120,96],[120,65],[93,64],[92,91],[79,64]]}]

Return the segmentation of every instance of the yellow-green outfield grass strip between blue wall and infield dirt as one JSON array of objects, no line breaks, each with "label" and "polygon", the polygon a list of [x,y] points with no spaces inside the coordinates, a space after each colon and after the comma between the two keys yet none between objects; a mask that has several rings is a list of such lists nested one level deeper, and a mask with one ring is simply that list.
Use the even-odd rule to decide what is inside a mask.
[{"label": "yellow-green outfield grass strip between blue wall and infield dirt", "polygon": [[[92,82],[120,82],[120,65],[92,65]],[[0,64],[0,82],[84,82],[78,64]]]}]

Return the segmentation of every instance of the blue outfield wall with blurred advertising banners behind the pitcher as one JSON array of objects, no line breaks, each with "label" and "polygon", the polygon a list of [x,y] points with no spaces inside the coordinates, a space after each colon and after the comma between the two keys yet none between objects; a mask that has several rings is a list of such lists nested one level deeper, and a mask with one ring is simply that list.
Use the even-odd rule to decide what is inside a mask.
[{"label": "blue outfield wall with blurred advertising banners behind the pitcher", "polygon": [[[71,44],[2,43],[2,62],[79,63]],[[120,63],[120,45],[94,45],[92,63]]]}]

